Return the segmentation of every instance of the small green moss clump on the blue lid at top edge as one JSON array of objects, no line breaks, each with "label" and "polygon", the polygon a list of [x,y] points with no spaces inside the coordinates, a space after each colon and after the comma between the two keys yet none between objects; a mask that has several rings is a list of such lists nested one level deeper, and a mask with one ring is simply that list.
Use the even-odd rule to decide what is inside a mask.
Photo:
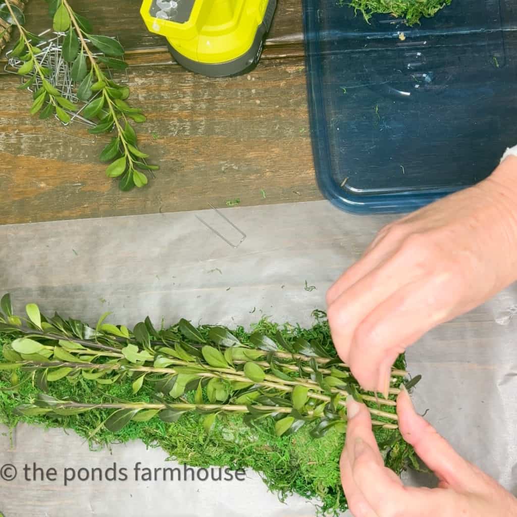
[{"label": "small green moss clump on the blue lid at top edge", "polygon": [[421,18],[431,18],[451,0],[339,0],[340,5],[349,5],[368,21],[374,14],[392,14],[404,18],[407,25],[420,23]]}]

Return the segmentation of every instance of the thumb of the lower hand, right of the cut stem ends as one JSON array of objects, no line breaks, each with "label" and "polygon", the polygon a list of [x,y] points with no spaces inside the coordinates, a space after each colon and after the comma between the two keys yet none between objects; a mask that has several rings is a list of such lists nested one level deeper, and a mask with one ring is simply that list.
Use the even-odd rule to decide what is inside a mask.
[{"label": "thumb of the lower hand, right of the cut stem ends", "polygon": [[440,480],[440,486],[468,491],[479,484],[480,471],[464,460],[432,425],[415,412],[405,386],[397,398],[402,437]]}]

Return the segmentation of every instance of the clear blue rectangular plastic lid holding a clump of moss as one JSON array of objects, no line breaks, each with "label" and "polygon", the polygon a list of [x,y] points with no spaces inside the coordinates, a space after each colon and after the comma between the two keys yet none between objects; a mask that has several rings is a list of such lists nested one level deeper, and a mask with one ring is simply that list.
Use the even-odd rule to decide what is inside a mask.
[{"label": "clear blue rectangular plastic lid holding a clump of moss", "polygon": [[327,199],[356,213],[406,212],[492,172],[517,144],[513,4],[452,0],[408,27],[304,0],[313,154]]}]

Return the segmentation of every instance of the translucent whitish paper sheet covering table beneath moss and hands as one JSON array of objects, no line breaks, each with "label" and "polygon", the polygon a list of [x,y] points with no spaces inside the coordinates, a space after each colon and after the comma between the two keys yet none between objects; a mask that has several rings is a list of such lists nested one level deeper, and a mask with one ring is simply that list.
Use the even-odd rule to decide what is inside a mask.
[{"label": "translucent whitish paper sheet covering table beneath moss and hands", "polygon": [[[311,324],[326,288],[391,218],[344,214],[326,202],[224,210],[246,235],[237,249],[207,229],[196,212],[0,227],[0,291],[18,312],[36,301],[93,323],[151,320],[248,325],[263,315]],[[199,212],[232,242],[240,235],[213,210]],[[315,286],[315,290],[305,290]],[[517,292],[512,286],[475,311],[429,332],[409,349],[421,373],[417,409],[465,458],[517,492]],[[163,466],[166,454],[141,443],[91,452],[60,430],[20,427],[0,436],[0,464],[107,468]],[[167,465],[169,466],[169,465]],[[87,515],[314,515],[300,497],[281,504],[258,475],[220,482],[0,481],[5,517]]]}]

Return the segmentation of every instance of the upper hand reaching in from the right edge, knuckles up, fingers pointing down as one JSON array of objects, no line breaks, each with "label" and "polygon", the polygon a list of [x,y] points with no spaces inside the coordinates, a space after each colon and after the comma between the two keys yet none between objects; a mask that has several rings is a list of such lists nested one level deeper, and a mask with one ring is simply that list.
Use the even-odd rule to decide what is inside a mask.
[{"label": "upper hand reaching in from the right edge, knuckles up, fingers pointing down", "polygon": [[387,394],[390,367],[434,326],[517,279],[517,158],[478,185],[388,224],[327,293],[341,359]]}]

